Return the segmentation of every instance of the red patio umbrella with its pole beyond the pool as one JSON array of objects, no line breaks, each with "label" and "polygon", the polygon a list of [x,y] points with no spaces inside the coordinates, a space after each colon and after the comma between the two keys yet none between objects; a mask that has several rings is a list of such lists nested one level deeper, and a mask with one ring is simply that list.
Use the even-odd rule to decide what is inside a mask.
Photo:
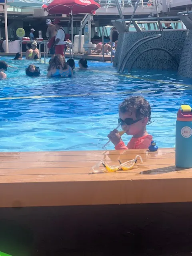
[{"label": "red patio umbrella with its pole beyond the pool", "polygon": [[95,14],[100,5],[94,0],[53,0],[47,7],[49,14],[66,14],[72,16],[71,34],[73,42],[73,15],[88,13]]}]

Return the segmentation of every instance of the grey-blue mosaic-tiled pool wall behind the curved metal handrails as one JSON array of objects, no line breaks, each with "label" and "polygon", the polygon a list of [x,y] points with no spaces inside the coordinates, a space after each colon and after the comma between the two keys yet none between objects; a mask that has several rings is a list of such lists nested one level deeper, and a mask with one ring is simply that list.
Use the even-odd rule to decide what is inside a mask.
[{"label": "grey-blue mosaic-tiled pool wall behind the curved metal handrails", "polygon": [[[130,48],[135,42],[146,37],[152,36],[156,34],[162,34],[162,36],[158,39],[146,42],[142,44],[138,50],[143,52],[149,48],[160,47],[171,52],[178,64],[180,63],[180,59],[182,56],[182,50],[186,38],[187,30],[178,29],[178,30],[163,30],[160,31],[141,31],[141,32],[126,32],[120,33],[118,38],[118,46],[116,49],[116,54],[114,58],[114,67],[118,68],[122,59],[124,58],[125,52],[128,48]],[[191,37],[192,38],[192,37]],[[192,39],[191,39],[192,40]],[[139,52],[136,50],[132,56],[130,57],[128,63],[126,64],[126,68],[130,67],[130,63],[134,61],[134,58],[138,56]],[[192,44],[191,44],[192,50]],[[153,60],[152,60],[153,59]],[[192,58],[191,58],[192,61]],[[167,53],[153,50],[142,54],[138,58],[137,63],[133,66],[135,68],[137,65],[137,69],[151,69],[151,70],[178,70],[178,66],[173,61],[172,57],[168,56]]]}]

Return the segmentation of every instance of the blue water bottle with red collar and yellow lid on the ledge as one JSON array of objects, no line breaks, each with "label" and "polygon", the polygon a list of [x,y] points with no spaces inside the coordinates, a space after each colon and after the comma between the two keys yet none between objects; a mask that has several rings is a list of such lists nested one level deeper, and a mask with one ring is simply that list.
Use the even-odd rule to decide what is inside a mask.
[{"label": "blue water bottle with red collar and yellow lid on the ledge", "polygon": [[177,113],[175,165],[192,168],[192,109],[181,105]]}]

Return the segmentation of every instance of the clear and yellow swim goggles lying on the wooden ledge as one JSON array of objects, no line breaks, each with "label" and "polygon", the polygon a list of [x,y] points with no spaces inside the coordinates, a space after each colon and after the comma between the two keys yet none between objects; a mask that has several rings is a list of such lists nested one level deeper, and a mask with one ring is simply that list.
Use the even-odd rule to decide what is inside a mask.
[{"label": "clear and yellow swim goggles lying on the wooden ledge", "polygon": [[[129,160],[127,162],[124,162],[120,165],[109,165],[106,162],[104,162],[103,160],[101,160],[100,162],[98,162],[96,165],[94,165],[92,167],[92,174],[93,173],[103,173],[103,172],[117,172],[117,171],[128,171],[131,170],[134,165],[137,162],[137,158],[140,158],[140,161],[143,162],[142,157],[141,156],[136,156],[135,159]],[[102,165],[104,168],[101,168],[100,165]]]}]

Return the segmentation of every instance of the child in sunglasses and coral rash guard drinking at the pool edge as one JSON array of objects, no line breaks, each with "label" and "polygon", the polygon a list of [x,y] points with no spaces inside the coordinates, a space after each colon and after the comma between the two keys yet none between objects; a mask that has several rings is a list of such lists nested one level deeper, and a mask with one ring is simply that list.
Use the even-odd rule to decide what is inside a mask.
[{"label": "child in sunglasses and coral rash guard drinking at the pool edge", "polygon": [[115,145],[115,149],[146,149],[150,146],[152,136],[146,131],[146,125],[151,124],[151,107],[147,100],[140,96],[126,98],[119,105],[118,122],[124,122],[123,130],[133,136],[126,146],[118,130],[111,131],[108,138]]}]

